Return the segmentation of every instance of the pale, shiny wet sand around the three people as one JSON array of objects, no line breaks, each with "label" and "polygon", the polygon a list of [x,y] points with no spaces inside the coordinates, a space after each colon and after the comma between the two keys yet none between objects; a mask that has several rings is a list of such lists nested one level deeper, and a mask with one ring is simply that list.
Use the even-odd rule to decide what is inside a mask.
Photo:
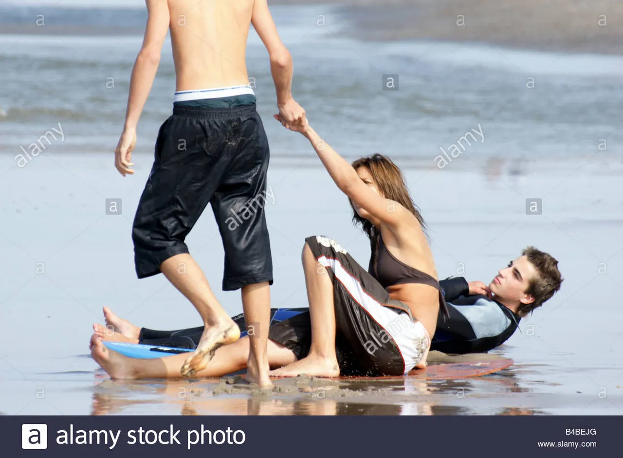
[{"label": "pale, shiny wet sand around the three people", "polygon": [[[561,291],[491,352],[515,361],[499,373],[428,381],[286,380],[270,396],[226,393],[219,379],[110,381],[88,356],[90,325],[102,322],[103,305],[150,328],[197,323],[196,311],[162,275],[138,281],[133,271],[128,234],[152,159],[136,153],[136,175],[121,179],[100,153],[49,150],[23,169],[0,155],[0,194],[11,196],[0,208],[10,222],[0,230],[0,250],[11,260],[0,269],[0,300],[2,318],[11,323],[5,338],[19,343],[1,352],[0,393],[11,393],[2,396],[7,414],[621,413],[620,158],[533,160],[519,171],[503,159],[494,170],[467,156],[444,170],[432,157],[428,169],[397,161],[431,228],[440,277],[457,275],[460,267],[468,279],[488,282],[533,244],[559,260]],[[369,247],[315,158],[274,161],[269,186],[275,195],[267,206],[272,303],[302,307],[304,237],[331,236],[362,264]],[[544,199],[543,215],[527,216],[525,199],[535,196]],[[105,198],[122,198],[123,214],[105,215]],[[227,312],[240,313],[239,293],[218,287],[223,253],[209,212],[187,242]],[[44,274],[37,274],[38,262]],[[24,338],[27,329],[38,330],[37,340]],[[37,398],[40,389],[44,398]]]}]

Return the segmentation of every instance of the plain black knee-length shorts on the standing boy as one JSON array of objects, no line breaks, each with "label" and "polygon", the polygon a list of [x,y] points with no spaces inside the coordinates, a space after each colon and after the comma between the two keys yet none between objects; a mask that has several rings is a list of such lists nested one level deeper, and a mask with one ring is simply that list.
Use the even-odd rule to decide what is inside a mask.
[{"label": "plain black knee-length shorts on the standing boy", "polygon": [[136,275],[159,274],[210,203],[225,251],[223,290],[272,284],[264,207],[269,143],[255,103],[173,108],[158,132],[155,158],[132,227]]}]

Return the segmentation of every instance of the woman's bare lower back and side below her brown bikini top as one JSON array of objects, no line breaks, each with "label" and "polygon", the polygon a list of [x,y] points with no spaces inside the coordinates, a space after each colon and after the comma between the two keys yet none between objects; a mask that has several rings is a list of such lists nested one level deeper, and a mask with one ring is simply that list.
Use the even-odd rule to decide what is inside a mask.
[{"label": "woman's bare lower back and side below her brown bikini top", "polygon": [[432,338],[439,314],[439,290],[430,285],[416,283],[394,285],[387,290],[389,297],[409,306],[413,317],[424,325]]}]

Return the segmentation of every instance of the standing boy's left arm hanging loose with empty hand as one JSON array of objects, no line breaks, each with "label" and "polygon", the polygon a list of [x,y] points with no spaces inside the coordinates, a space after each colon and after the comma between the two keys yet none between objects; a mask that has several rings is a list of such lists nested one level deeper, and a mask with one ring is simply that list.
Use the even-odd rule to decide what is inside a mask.
[{"label": "standing boy's left arm hanging loose with empty hand", "polygon": [[141,117],[147,97],[150,95],[160,63],[164,39],[169,30],[167,0],[146,0],[145,2],[148,14],[145,38],[132,70],[123,133],[115,150],[115,167],[123,176],[127,173],[134,174],[134,171],[130,169],[133,165],[130,161],[132,150],[136,145],[136,125],[138,125],[138,118]]}]

